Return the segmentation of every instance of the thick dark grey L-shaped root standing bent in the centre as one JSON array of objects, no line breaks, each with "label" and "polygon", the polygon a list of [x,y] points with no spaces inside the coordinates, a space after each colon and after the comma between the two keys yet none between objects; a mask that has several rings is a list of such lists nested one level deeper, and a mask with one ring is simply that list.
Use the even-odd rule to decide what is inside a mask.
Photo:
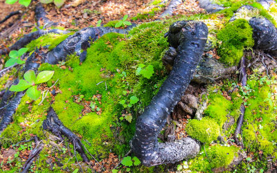
[{"label": "thick dark grey L-shaped root standing bent in the centre", "polygon": [[170,26],[168,42],[177,47],[177,58],[168,78],[136,121],[130,145],[145,166],[175,163],[192,158],[200,145],[193,138],[158,143],[166,118],[186,91],[204,51],[208,28],[202,21],[177,21]]}]

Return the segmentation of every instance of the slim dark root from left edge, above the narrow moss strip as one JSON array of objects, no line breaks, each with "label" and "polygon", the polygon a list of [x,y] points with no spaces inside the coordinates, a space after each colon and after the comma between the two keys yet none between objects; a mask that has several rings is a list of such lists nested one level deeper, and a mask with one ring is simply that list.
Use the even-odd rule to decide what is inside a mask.
[{"label": "slim dark root from left edge, above the narrow moss strip", "polygon": [[9,48],[4,48],[0,50],[0,55],[6,55],[12,50],[19,50],[19,48],[23,48],[26,46],[26,44],[30,43],[32,40],[37,39],[38,37],[42,35],[46,35],[48,33],[56,33],[56,34],[67,34],[70,33],[69,31],[66,30],[59,30],[59,29],[52,29],[52,30],[37,30],[33,33],[29,33],[19,39],[15,44],[10,46]]}]

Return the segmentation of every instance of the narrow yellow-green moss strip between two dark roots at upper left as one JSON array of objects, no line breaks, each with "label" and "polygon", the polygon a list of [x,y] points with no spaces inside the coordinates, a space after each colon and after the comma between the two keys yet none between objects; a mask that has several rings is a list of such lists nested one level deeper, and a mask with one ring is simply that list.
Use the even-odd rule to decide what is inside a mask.
[{"label": "narrow yellow-green moss strip between two dark roots at upper left", "polygon": [[55,33],[48,33],[46,35],[42,35],[41,37],[33,40],[29,44],[26,45],[26,48],[31,50],[35,50],[35,48],[39,48],[40,46],[49,46],[48,49],[51,50],[55,48],[60,42],[64,41],[69,35],[72,35],[73,33],[68,34],[55,34]]}]

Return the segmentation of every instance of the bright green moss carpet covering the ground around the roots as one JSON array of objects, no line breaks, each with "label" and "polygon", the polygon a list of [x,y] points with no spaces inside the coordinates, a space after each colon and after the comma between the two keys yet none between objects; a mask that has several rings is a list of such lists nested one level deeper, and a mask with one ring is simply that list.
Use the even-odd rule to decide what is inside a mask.
[{"label": "bright green moss carpet covering the ground around the roots", "polygon": [[[55,74],[41,89],[48,89],[57,81],[57,94],[48,92],[40,105],[41,98],[32,102],[24,95],[13,122],[1,133],[1,145],[8,149],[11,145],[36,135],[46,144],[39,155],[39,162],[35,164],[38,172],[60,172],[58,167],[62,167],[63,172],[77,169],[78,165],[72,157],[73,147],[67,141],[53,147],[51,134],[42,129],[47,110],[53,107],[64,126],[78,134],[84,146],[99,161],[107,158],[111,152],[122,158],[129,150],[136,118],[159,91],[168,75],[161,57],[168,49],[168,42],[163,35],[170,24],[183,19],[204,21],[209,28],[208,39],[226,66],[237,65],[243,51],[253,46],[248,21],[228,21],[242,3],[258,5],[253,1],[218,3],[229,8],[212,15],[178,16],[141,24],[132,28],[127,35],[104,35],[91,43],[87,59],[82,63],[78,56],[70,55],[66,62],[60,64],[42,64],[39,71],[50,70],[55,71]],[[270,14],[260,6],[258,8],[258,15],[274,21],[271,14],[276,12],[275,8],[271,8]],[[116,21],[112,21],[107,25],[115,24]],[[66,37],[68,35],[44,35],[27,47],[30,52],[39,46],[51,49]],[[1,78],[0,87],[4,88],[6,80],[14,73],[15,71]],[[183,166],[181,170],[212,172],[214,168],[227,167],[233,158],[238,157],[238,152],[247,152],[247,159],[235,168],[241,172],[253,167],[266,170],[267,156],[276,158],[276,77],[269,79],[254,73],[249,77],[246,87],[239,86],[233,93],[228,93],[237,83],[237,80],[232,80],[208,86],[208,107],[204,111],[204,118],[190,120],[186,127],[188,135],[203,143],[202,149],[196,158],[188,160],[186,166],[180,163]],[[230,117],[236,122],[240,115],[240,104],[246,106],[242,135],[238,136],[244,143],[243,150],[230,145],[235,123],[227,129],[223,128]],[[223,140],[218,140],[218,136],[222,136]],[[27,144],[31,145],[32,142]],[[28,151],[28,148],[22,150]],[[78,154],[77,158],[79,161],[82,159]],[[49,159],[54,161],[49,163]],[[249,159],[255,162],[250,162]],[[10,172],[19,170],[21,162],[19,157],[11,157],[7,165]],[[133,166],[132,171],[164,172],[165,167],[160,165],[147,168],[139,165]],[[126,171],[126,167],[121,169]]]}]

